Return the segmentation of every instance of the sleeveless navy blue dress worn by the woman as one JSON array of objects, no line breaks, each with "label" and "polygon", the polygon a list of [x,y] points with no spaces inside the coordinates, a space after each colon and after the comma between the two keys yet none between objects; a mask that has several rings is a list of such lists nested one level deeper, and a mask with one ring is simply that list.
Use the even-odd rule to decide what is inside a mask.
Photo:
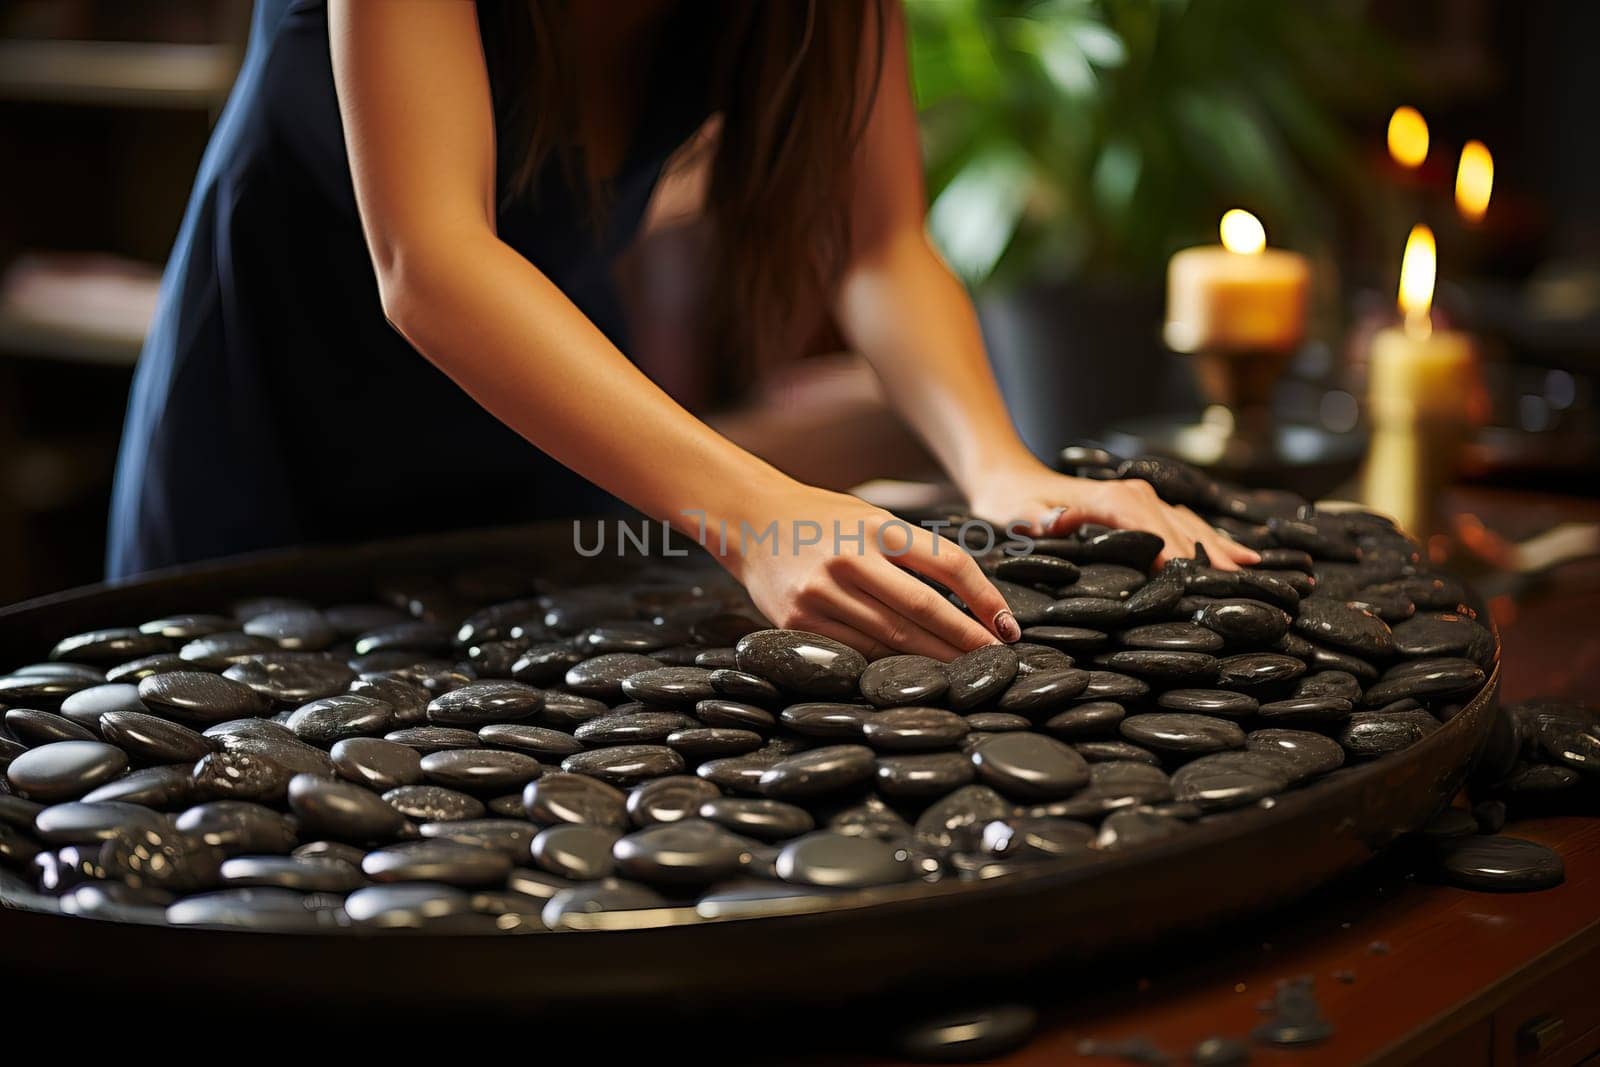
[{"label": "sleeveless navy blue dress worn by the woman", "polygon": [[[501,238],[622,346],[611,270],[704,98],[653,83],[597,229],[550,163]],[[515,146],[501,146],[507,173]],[[626,350],[626,347],[624,347]],[[362,237],[323,3],[258,0],[133,381],[110,577],[306,542],[603,509],[384,318]]]}]

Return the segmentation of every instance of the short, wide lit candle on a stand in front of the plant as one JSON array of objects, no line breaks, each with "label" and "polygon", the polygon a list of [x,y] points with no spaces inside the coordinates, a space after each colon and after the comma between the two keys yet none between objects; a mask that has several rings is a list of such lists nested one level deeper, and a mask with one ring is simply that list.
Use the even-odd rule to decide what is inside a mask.
[{"label": "short, wide lit candle on a stand in front of the plant", "polygon": [[1166,266],[1166,344],[1174,352],[1290,352],[1306,336],[1310,269],[1267,248],[1248,211],[1222,216],[1222,245],[1186,248]]}]

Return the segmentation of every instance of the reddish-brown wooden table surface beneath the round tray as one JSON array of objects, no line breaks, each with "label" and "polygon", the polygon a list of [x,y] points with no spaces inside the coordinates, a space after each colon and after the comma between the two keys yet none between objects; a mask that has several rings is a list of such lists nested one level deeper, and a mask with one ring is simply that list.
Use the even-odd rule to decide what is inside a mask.
[{"label": "reddish-brown wooden table surface beneath the round tray", "polygon": [[[1509,537],[1555,522],[1600,522],[1600,502],[1469,491],[1454,504]],[[1515,605],[1496,605],[1504,633],[1502,699],[1600,699],[1600,561],[1571,563]],[[1197,1041],[1246,1037],[1277,982],[1315,979],[1333,1037],[1317,1046],[1251,1046],[1254,1065],[1576,1064],[1600,1051],[1600,819],[1541,817],[1507,833],[1555,848],[1566,881],[1542,893],[1469,893],[1408,880],[1379,861],[1248,929],[1168,958],[1109,968],[1085,993],[1038,1005],[1042,1024],[1011,1067],[1110,1064],[1080,1041],[1144,1038],[1173,1064]],[[1219,872],[1219,878],[1222,878]],[[1518,1032],[1544,1019],[1542,1051]],[[891,1062],[891,1061],[883,1061]],[[1126,1061],[1123,1061],[1126,1062]]]}]

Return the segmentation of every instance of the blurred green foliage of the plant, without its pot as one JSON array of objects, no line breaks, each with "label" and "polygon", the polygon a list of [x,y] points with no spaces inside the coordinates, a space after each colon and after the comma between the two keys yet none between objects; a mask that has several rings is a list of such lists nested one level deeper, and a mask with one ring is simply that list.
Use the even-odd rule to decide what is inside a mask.
[{"label": "blurred green foliage of the plant, without its pot", "polygon": [[1323,251],[1363,181],[1341,118],[1387,115],[1398,67],[1354,2],[906,8],[928,226],[974,285],[1157,278],[1230,206]]}]

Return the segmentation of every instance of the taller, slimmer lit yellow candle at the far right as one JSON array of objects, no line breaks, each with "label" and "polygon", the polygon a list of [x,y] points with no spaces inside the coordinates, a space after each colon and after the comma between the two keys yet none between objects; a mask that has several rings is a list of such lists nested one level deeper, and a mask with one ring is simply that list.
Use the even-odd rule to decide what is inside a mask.
[{"label": "taller, slimmer lit yellow candle at the far right", "polygon": [[1424,541],[1438,528],[1438,491],[1454,475],[1477,389],[1472,338],[1434,330],[1437,262],[1434,232],[1413,227],[1400,262],[1403,322],[1373,336],[1368,365],[1363,499]]}]

